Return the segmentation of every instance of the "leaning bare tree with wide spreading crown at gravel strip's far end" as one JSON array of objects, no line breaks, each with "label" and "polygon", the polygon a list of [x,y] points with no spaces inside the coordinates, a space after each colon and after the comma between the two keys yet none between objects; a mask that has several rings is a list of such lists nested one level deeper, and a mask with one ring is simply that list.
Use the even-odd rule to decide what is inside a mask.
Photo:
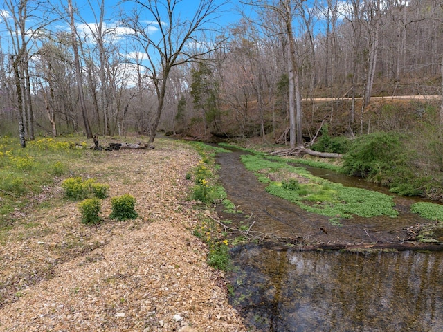
[{"label": "leaning bare tree with wide spreading crown at gravel strip's far end", "polygon": [[[226,2],[200,0],[195,14],[186,20],[182,20],[179,15],[179,5],[182,2],[180,0],[127,0],[126,2],[137,5],[131,16],[123,18],[123,22],[132,30],[132,37],[144,48],[149,62],[147,71],[156,91],[158,104],[150,133],[150,142],[154,142],[171,69],[194,59],[200,59],[218,47],[217,44],[209,44],[197,53],[188,52],[188,44],[200,42],[199,34],[210,30],[210,24],[217,19]],[[143,17],[145,13],[147,17]],[[159,37],[151,32],[150,28],[154,27],[159,29]]]}]

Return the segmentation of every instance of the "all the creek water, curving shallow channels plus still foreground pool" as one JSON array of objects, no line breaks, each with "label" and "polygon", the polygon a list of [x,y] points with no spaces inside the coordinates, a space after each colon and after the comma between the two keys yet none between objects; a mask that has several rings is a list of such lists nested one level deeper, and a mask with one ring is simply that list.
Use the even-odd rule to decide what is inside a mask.
[{"label": "all the creek water, curving shallow channels plus still foreground pool", "polygon": [[[346,219],[309,214],[264,191],[241,151],[217,155],[219,176],[254,229],[309,241],[373,242],[404,236],[424,223],[408,212],[417,199],[396,197],[397,218]],[[344,185],[383,191],[330,171],[309,169]],[[230,216],[235,218],[235,216]],[[239,216],[237,216],[239,218]],[[252,331],[443,331],[443,252],[300,251],[248,244],[231,250],[230,301]]]}]

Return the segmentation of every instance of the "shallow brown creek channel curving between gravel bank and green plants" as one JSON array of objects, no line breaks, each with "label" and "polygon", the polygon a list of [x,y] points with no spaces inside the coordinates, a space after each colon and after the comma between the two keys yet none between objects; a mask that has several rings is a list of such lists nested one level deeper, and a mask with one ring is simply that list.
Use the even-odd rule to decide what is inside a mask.
[{"label": "shallow brown creek channel curving between gravel bank and green plants", "polygon": [[[237,229],[249,229],[260,241],[289,243],[305,250],[442,250],[437,243],[418,241],[422,230],[433,225],[417,214],[400,211],[400,217],[341,218],[340,225],[329,217],[302,210],[293,203],[271,196],[266,185],[246,170],[240,161],[243,151],[217,154],[220,181],[228,199],[242,213],[228,214],[219,209],[223,219],[230,220]],[[244,237],[244,233],[239,232]]]}]

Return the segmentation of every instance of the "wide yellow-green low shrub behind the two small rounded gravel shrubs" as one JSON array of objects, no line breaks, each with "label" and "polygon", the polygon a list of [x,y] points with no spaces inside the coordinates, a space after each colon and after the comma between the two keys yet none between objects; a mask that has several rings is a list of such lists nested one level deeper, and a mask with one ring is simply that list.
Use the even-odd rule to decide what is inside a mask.
[{"label": "wide yellow-green low shrub behind the two small rounded gravel shrubs", "polygon": [[62,182],[66,197],[70,199],[86,199],[95,196],[105,199],[108,195],[109,185],[97,183],[93,178],[83,181],[82,178],[66,178]]}]

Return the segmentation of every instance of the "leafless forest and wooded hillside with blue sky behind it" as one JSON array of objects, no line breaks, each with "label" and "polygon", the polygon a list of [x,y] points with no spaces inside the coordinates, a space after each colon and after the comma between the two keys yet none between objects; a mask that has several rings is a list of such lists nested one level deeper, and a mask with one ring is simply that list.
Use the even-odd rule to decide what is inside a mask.
[{"label": "leafless forest and wooded hillside with blue sky behind it", "polygon": [[374,144],[406,152],[385,157],[409,178],[442,169],[441,0],[200,0],[183,19],[185,2],[2,1],[0,135],[21,147],[162,133],[343,153],[384,132]]}]

